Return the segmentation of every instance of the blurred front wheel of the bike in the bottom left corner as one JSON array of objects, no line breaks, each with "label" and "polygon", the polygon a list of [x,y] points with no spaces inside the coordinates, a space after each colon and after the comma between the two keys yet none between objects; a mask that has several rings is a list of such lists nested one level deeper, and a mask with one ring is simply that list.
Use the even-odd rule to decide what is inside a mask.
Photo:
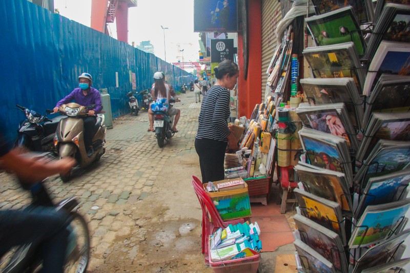
[{"label": "blurred front wheel of the bike in the bottom left corner", "polygon": [[73,217],[69,230],[69,243],[67,247],[67,261],[65,273],[83,273],[86,271],[90,260],[90,233],[86,220],[80,214],[70,213]]}]

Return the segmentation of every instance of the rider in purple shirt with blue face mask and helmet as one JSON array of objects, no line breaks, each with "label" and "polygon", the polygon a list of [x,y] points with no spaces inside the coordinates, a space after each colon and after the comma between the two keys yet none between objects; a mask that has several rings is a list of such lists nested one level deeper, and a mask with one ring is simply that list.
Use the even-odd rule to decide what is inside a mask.
[{"label": "rider in purple shirt with blue face mask and helmet", "polygon": [[99,91],[91,87],[93,82],[91,75],[89,73],[83,73],[78,76],[78,81],[79,87],[75,88],[69,95],[57,102],[54,113],[58,112],[58,108],[61,105],[73,100],[82,106],[95,104],[95,107],[88,111],[88,117],[84,118],[84,144],[86,145],[87,155],[90,157],[94,153],[92,138],[96,133],[95,123],[97,120],[95,115],[101,112],[103,106]]}]

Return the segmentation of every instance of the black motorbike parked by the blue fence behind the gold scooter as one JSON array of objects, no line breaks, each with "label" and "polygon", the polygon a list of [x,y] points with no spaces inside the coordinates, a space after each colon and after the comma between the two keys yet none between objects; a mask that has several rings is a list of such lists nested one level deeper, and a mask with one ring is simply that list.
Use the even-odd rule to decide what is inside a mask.
[{"label": "black motorbike parked by the blue fence behind the gold scooter", "polygon": [[[56,116],[49,119],[46,114],[43,116],[18,104],[16,104],[16,107],[25,113],[27,119],[20,121],[18,124],[14,147],[28,149],[33,152],[56,153],[53,138],[58,123],[65,116]],[[46,113],[53,113],[53,111],[46,110]]]}]

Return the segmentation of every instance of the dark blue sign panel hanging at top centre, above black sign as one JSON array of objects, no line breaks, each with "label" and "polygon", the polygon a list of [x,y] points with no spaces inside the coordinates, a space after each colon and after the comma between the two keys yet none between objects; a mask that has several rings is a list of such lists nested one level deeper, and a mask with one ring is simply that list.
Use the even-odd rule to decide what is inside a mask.
[{"label": "dark blue sign panel hanging at top centre, above black sign", "polygon": [[194,32],[237,32],[236,0],[194,0]]}]

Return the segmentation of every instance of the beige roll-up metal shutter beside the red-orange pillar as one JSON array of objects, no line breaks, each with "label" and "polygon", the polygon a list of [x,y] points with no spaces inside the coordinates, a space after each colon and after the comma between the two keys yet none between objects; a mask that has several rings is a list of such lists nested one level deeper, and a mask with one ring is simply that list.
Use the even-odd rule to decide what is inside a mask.
[{"label": "beige roll-up metal shutter beside the red-orange pillar", "polygon": [[[282,19],[280,2],[278,0],[262,0],[262,97],[264,101],[268,75],[266,71],[276,49],[275,30]],[[253,18],[250,18],[253,19]]]}]

